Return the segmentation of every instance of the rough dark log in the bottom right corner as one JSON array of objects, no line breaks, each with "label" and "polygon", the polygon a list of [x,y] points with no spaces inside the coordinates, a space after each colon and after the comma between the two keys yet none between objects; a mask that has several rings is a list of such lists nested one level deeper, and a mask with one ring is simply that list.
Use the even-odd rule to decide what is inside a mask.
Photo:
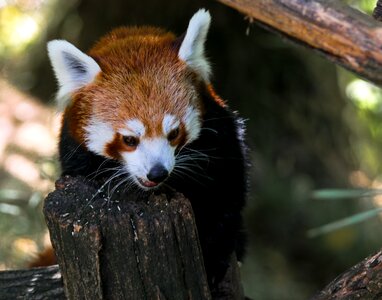
[{"label": "rough dark log in the bottom right corner", "polygon": [[338,276],[312,300],[382,299],[382,250]]}]

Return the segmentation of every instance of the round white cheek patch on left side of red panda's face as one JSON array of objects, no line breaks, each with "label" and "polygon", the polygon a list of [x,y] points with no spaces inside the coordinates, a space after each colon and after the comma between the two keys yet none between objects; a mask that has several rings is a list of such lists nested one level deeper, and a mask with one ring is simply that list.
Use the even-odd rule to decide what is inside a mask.
[{"label": "round white cheek patch on left side of red panda's face", "polygon": [[92,118],[85,127],[85,144],[96,154],[105,156],[105,146],[114,139],[113,127],[103,121]]}]

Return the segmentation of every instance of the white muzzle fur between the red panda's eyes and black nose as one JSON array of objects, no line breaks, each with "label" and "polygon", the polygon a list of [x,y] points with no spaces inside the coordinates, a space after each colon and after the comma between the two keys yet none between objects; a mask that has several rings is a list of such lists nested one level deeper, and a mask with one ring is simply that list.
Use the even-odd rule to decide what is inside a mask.
[{"label": "white muzzle fur between the red panda's eyes and black nose", "polygon": [[127,171],[138,182],[138,178],[148,180],[147,174],[158,164],[171,173],[175,165],[175,147],[164,137],[142,139],[135,151],[124,152],[122,157]]}]

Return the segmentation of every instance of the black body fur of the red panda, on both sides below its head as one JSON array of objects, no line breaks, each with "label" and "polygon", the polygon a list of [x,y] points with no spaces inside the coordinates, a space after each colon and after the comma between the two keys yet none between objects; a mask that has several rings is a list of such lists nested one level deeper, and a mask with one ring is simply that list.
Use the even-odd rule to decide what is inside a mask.
[{"label": "black body fur of the red panda, on both sides below its head", "polygon": [[[191,201],[213,290],[224,276],[231,254],[236,251],[239,259],[243,255],[241,211],[247,192],[247,159],[242,120],[217,103],[207,88],[202,89],[201,99],[204,115],[200,136],[178,155],[203,159],[190,159],[192,166],[185,174],[171,174],[164,184]],[[68,131],[68,122],[64,120],[59,145],[63,175],[91,178],[106,168],[120,166],[118,161],[105,161],[79,145]]]}]

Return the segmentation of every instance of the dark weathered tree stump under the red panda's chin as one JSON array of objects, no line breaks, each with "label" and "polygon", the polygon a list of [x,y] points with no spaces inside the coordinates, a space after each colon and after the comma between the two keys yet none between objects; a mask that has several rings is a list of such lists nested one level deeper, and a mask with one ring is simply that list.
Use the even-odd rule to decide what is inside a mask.
[{"label": "dark weathered tree stump under the red panda's chin", "polygon": [[115,194],[64,177],[45,200],[66,297],[210,299],[189,201]]}]

